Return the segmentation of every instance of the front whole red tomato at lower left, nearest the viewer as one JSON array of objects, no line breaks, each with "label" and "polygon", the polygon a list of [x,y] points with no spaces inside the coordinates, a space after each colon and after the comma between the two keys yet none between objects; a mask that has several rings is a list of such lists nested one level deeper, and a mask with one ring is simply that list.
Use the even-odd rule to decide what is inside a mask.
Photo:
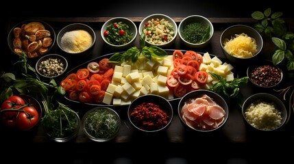
[{"label": "front whole red tomato at lower left, nearest the viewer", "polygon": [[39,115],[33,106],[24,107],[23,110],[25,112],[19,112],[17,118],[15,118],[15,124],[21,131],[27,131],[38,123]]}]

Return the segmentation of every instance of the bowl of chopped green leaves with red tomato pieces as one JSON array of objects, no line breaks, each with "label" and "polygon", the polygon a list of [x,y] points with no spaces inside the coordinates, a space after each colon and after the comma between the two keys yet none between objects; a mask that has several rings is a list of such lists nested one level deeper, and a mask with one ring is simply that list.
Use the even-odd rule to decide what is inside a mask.
[{"label": "bowl of chopped green leaves with red tomato pieces", "polygon": [[[117,26],[114,27],[114,24]],[[120,33],[121,30],[124,31],[123,34]],[[138,29],[135,23],[125,17],[110,18],[101,27],[101,38],[104,43],[115,50],[126,50],[134,46],[137,33]],[[117,42],[117,38],[121,38],[120,42]]]}]

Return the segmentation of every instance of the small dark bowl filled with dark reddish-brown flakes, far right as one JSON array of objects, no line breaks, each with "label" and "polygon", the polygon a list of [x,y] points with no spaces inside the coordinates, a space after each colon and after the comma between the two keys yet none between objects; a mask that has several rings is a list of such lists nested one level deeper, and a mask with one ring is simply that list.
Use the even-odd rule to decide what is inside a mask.
[{"label": "small dark bowl filled with dark reddish-brown flakes, far right", "polygon": [[278,66],[273,66],[271,61],[265,60],[248,66],[247,77],[254,86],[268,89],[281,83],[283,72]]}]

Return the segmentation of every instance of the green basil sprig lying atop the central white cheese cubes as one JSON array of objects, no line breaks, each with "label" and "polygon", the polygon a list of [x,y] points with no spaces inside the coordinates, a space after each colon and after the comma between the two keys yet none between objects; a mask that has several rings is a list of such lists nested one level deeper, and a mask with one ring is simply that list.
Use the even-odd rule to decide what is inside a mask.
[{"label": "green basil sprig lying atop the central white cheese cubes", "polygon": [[110,63],[121,63],[123,61],[132,61],[132,64],[136,63],[140,54],[142,54],[147,59],[152,57],[167,57],[167,51],[161,49],[158,46],[146,46],[145,45],[145,33],[140,35],[140,46],[143,47],[140,51],[136,46],[127,49],[124,53],[114,53],[108,60]]}]

